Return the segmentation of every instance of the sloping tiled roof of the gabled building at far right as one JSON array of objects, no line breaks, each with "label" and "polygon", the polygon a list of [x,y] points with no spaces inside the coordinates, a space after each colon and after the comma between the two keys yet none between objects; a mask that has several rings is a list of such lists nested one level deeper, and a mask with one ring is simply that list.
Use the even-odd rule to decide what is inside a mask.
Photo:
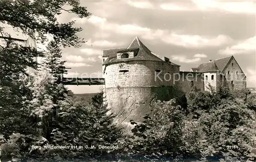
[{"label": "sloping tiled roof of the gabled building at far right", "polygon": [[232,56],[200,64],[198,72],[222,71],[231,58]]}]

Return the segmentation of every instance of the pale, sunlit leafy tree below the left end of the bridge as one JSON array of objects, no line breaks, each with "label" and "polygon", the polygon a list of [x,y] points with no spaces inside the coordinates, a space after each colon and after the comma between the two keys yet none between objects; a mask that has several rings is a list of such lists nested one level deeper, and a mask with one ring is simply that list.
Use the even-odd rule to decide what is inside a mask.
[{"label": "pale, sunlit leafy tree below the left end of the bridge", "polygon": [[31,71],[29,76],[23,79],[23,82],[31,92],[31,97],[25,107],[26,111],[29,116],[36,119],[37,134],[49,139],[52,113],[54,107],[58,105],[55,102],[55,96],[60,87],[55,83],[54,76],[45,68]]}]

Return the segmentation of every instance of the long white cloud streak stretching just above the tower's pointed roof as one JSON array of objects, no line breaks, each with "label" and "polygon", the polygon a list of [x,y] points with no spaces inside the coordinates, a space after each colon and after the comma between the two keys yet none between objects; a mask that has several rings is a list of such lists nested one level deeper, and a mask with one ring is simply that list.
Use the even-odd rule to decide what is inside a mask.
[{"label": "long white cloud streak stretching just above the tower's pointed roof", "polygon": [[[101,23],[101,21],[97,22],[99,22],[99,24]],[[102,33],[112,32],[123,35],[136,35],[141,36],[144,39],[158,39],[167,44],[174,44],[177,46],[184,46],[190,48],[200,48],[204,46],[221,46],[232,41],[231,38],[225,35],[219,35],[217,37],[182,35],[168,30],[152,30],[150,28],[139,26],[137,24],[117,24],[108,21],[102,21],[102,23],[103,25],[97,25]]]}]

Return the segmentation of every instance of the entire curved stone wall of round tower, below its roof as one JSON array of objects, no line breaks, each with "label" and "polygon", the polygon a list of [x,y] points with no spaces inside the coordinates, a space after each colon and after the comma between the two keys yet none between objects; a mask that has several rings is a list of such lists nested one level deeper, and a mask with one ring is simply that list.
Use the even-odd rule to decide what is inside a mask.
[{"label": "entire curved stone wall of round tower, below its roof", "polygon": [[118,123],[132,119],[141,121],[146,114],[150,114],[154,101],[171,99],[175,70],[177,68],[172,65],[157,61],[106,65],[103,70],[105,99],[109,109],[117,116]]}]

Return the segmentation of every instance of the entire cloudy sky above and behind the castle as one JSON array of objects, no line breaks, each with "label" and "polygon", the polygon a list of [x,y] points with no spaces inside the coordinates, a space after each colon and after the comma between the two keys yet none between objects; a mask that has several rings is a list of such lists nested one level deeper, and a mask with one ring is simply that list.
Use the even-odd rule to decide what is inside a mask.
[{"label": "entire cloudy sky above and behind the castle", "polygon": [[[66,48],[69,76],[101,77],[102,49],[127,47],[138,36],[153,52],[189,71],[199,64],[233,55],[256,87],[255,1],[86,1],[90,18],[67,13],[60,22],[76,20],[88,40]],[[74,93],[95,93],[100,86],[69,86]]]}]

